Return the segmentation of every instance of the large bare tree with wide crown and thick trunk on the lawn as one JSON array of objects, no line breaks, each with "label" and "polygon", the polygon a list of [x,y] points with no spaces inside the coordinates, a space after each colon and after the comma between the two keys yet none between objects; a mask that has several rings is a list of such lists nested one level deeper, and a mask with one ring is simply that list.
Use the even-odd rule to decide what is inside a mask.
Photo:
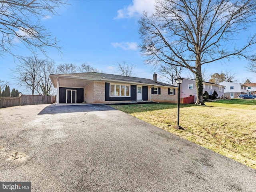
[{"label": "large bare tree with wide crown and thick trunk on the lawn", "polygon": [[195,104],[203,102],[204,64],[234,56],[252,60],[256,34],[236,46],[237,36],[256,22],[252,0],[156,0],[155,12],[139,21],[146,64],[181,66],[196,75]]}]

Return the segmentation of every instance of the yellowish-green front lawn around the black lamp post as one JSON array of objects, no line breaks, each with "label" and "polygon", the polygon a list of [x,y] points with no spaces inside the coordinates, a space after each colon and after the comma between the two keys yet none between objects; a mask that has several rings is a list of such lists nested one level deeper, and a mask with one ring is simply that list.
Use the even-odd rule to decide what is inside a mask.
[{"label": "yellowish-green front lawn around the black lamp post", "polygon": [[112,106],[186,140],[256,169],[256,100],[220,100],[206,106],[177,104]]}]

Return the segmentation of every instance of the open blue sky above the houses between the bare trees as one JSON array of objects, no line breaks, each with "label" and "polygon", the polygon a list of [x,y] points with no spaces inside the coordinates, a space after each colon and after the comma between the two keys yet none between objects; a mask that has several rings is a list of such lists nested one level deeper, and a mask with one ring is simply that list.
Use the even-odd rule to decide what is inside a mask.
[{"label": "open blue sky above the houses between the bare trees", "polygon": [[[152,12],[152,0],[70,0],[70,5],[58,10],[59,15],[42,18],[41,22],[59,40],[62,56],[58,50],[50,49],[48,56],[56,64],[87,62],[104,73],[114,74],[118,62],[136,66],[137,77],[152,78],[152,66],[145,65],[137,45],[140,44],[138,19],[143,10]],[[22,56],[31,53],[24,48],[17,50]],[[41,58],[45,58],[41,55]],[[246,60],[234,59],[226,64],[212,63],[206,67],[209,74],[232,70],[238,80],[250,78],[256,82],[255,74],[246,70]],[[0,80],[10,82],[10,88],[22,93],[25,88],[16,86],[10,68],[15,63],[12,56],[1,59]],[[156,71],[157,72],[157,71]],[[186,77],[188,72],[183,73]],[[30,94],[30,92],[27,92]]]}]

